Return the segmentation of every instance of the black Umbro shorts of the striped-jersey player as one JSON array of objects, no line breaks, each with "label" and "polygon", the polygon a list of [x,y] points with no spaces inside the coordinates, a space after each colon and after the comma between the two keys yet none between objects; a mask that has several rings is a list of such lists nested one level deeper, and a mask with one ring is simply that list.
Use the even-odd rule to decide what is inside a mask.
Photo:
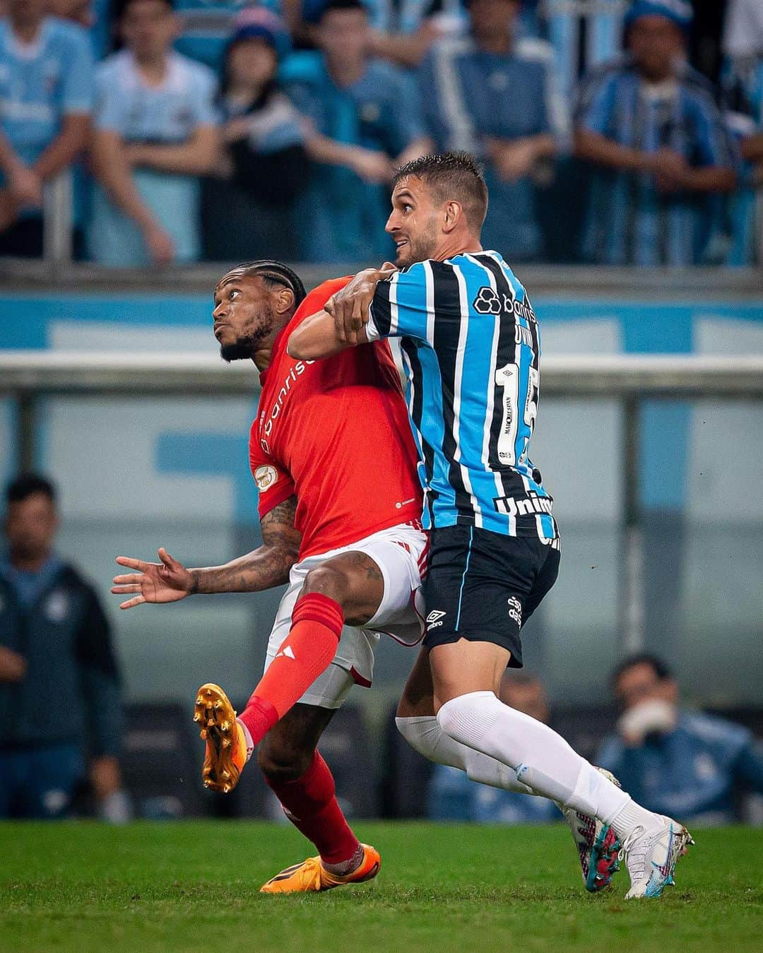
[{"label": "black Umbro shorts of the striped-jersey player", "polygon": [[[558,546],[558,544],[557,544]],[[474,526],[432,530],[423,595],[424,644],[494,642],[522,667],[522,626],[551,590],[559,549],[536,537],[508,537]]]}]

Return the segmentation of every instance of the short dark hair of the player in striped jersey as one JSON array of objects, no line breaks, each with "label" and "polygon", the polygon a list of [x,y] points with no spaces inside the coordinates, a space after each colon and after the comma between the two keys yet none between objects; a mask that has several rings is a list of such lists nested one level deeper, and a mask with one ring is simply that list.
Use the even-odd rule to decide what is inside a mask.
[{"label": "short dark hair of the player in striped jersey", "polygon": [[442,202],[458,199],[469,227],[479,234],[488,213],[488,186],[473,155],[469,152],[437,152],[412,159],[395,169],[392,188],[409,175],[432,186],[432,191]]}]

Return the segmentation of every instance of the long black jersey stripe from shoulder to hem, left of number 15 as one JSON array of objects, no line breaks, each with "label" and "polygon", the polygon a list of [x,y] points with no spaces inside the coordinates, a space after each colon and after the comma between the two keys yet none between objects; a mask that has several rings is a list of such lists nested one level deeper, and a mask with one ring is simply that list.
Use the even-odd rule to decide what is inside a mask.
[{"label": "long black jersey stripe from shoulder to hem, left of number 15", "polygon": [[432,261],[430,265],[432,267],[432,297],[435,314],[432,343],[440,365],[445,423],[442,452],[448,460],[448,482],[455,493],[458,521],[459,523],[472,523],[474,520],[472,498],[464,485],[461,468],[455,462],[455,437],[453,436],[455,365],[458,359],[458,336],[461,331],[461,322],[457,316],[461,312],[458,278],[452,265],[439,261]]}]

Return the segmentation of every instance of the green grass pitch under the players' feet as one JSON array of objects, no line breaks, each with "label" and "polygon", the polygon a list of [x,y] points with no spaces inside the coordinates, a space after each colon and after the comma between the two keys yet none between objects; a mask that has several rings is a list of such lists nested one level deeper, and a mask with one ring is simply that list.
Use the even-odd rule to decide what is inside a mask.
[{"label": "green grass pitch under the players' feet", "polygon": [[763,950],[763,830],[697,831],[659,901],[583,889],[566,826],[358,823],[379,877],[267,897],[308,856],[257,822],[0,823],[0,950],[419,953]]}]

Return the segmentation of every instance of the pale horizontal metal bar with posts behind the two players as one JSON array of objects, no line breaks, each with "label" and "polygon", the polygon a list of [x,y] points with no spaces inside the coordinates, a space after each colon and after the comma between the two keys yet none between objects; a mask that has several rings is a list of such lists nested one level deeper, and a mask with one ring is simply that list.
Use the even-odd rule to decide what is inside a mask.
[{"label": "pale horizontal metal bar with posts behind the two players", "polygon": [[[17,464],[34,465],[38,403],[46,396],[252,396],[250,363],[216,355],[0,352],[0,395],[16,402]],[[644,645],[643,515],[640,506],[640,405],[653,399],[763,399],[763,355],[566,355],[543,360],[546,398],[617,400],[623,411],[621,626],[627,651]]]}]

